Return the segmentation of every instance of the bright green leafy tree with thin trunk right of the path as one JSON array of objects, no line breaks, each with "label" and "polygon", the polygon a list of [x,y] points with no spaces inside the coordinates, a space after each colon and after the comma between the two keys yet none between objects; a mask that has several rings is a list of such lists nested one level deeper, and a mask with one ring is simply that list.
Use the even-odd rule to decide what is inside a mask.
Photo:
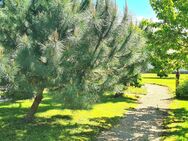
[{"label": "bright green leafy tree with thin trunk right of the path", "polygon": [[[144,21],[148,34],[151,62],[157,72],[169,73],[187,67],[188,2],[186,0],[150,0],[159,22]],[[149,23],[149,24],[148,24]]]}]

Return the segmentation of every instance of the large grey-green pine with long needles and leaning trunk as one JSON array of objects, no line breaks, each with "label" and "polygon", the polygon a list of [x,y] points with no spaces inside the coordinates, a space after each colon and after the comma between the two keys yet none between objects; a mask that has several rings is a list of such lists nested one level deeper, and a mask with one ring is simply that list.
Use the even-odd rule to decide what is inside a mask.
[{"label": "large grey-green pine with long needles and leaning trunk", "polygon": [[45,88],[66,107],[82,108],[138,76],[145,39],[126,11],[120,21],[110,0],[6,2],[0,10],[1,73],[7,96],[35,97],[27,120]]}]

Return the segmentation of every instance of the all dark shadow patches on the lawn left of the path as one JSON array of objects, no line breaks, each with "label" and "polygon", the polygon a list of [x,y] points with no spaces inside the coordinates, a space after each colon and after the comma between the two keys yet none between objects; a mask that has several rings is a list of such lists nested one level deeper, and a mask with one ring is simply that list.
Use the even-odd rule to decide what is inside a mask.
[{"label": "all dark shadow patches on the lawn left of the path", "polygon": [[[104,96],[100,103],[127,102],[136,103],[136,99]],[[37,117],[32,123],[23,121],[24,115],[29,107],[17,102],[0,104],[0,140],[3,141],[74,141],[74,140],[96,140],[96,136],[103,130],[115,125],[120,117],[100,117],[90,119],[87,124],[75,123],[70,115],[53,115],[51,118]],[[53,109],[62,109],[60,103],[54,103],[52,99],[44,99],[39,107],[38,113]]]}]

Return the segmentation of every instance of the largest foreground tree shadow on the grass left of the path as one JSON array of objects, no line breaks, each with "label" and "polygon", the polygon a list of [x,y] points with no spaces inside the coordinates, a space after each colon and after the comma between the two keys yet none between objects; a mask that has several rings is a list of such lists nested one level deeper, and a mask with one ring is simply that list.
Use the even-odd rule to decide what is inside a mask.
[{"label": "largest foreground tree shadow on the grass left of the path", "polygon": [[[96,135],[105,130],[110,122],[117,120],[116,118],[119,119],[119,117],[99,118],[95,121],[92,119],[92,124],[73,123],[69,115],[37,118],[32,123],[25,123],[19,117],[3,118],[0,119],[0,139],[3,141],[95,140]],[[99,120],[105,122],[97,124]]]}]

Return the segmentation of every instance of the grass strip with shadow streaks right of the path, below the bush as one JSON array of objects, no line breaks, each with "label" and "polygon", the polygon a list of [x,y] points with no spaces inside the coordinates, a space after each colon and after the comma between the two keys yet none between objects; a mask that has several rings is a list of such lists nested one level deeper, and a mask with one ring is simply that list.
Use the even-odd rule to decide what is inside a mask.
[{"label": "grass strip with shadow streaks right of the path, below the bush", "polygon": [[188,139],[188,101],[174,100],[170,105],[170,116],[166,120],[168,133],[164,141],[187,141]]}]

